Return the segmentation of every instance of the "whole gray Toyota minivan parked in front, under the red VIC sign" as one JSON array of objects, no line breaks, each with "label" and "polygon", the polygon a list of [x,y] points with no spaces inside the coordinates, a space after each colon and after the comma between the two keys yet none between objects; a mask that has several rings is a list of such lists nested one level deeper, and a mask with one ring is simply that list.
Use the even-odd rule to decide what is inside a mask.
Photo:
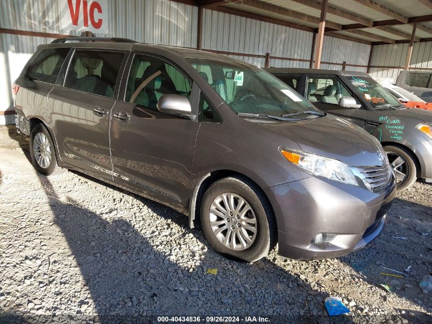
[{"label": "whole gray Toyota minivan parked in front, under the red VIC sign", "polygon": [[341,256],[382,231],[395,176],[364,129],[234,58],[74,40],[89,39],[39,46],[13,87],[42,175],[79,170],[161,202],[248,262],[277,243]]}]

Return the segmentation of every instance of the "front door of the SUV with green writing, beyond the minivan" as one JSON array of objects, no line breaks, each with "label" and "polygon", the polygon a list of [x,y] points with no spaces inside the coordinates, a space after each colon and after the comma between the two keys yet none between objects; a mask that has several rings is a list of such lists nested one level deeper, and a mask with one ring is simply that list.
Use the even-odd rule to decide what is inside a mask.
[{"label": "front door of the SUV with green writing, beyond the minivan", "polygon": [[[337,76],[308,75],[305,94],[306,99],[322,111],[343,117],[361,127],[365,125],[366,110]],[[342,97],[353,97],[357,108],[339,106]]]}]

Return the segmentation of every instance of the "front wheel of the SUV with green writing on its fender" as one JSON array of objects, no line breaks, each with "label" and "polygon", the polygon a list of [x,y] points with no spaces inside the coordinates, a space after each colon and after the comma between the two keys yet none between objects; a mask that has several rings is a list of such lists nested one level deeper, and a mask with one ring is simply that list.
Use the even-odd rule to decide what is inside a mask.
[{"label": "front wheel of the SUV with green writing on its fender", "polygon": [[403,190],[411,187],[417,179],[417,168],[410,152],[402,147],[384,146],[385,153],[396,174],[396,189]]}]

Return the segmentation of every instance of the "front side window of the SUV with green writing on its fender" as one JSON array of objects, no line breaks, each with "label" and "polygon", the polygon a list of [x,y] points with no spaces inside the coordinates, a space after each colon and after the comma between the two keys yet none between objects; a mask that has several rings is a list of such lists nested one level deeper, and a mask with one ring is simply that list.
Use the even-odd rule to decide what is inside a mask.
[{"label": "front side window of the SUV with green writing on its fender", "polygon": [[336,77],[309,76],[307,80],[306,98],[309,101],[337,105],[340,98],[352,97]]}]

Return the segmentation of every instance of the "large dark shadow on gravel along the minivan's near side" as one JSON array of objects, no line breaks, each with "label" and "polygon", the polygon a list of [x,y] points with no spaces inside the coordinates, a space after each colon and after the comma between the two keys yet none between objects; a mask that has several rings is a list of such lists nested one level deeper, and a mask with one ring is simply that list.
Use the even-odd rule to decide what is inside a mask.
[{"label": "large dark shadow on gravel along the minivan's near side", "polygon": [[[49,198],[55,224],[63,232],[75,256],[101,322],[148,322],[155,320],[157,315],[263,316],[268,314],[261,303],[267,298],[278,300],[277,303],[275,301],[277,305],[272,305],[275,310],[279,307],[282,313],[289,313],[292,308],[305,309],[313,300],[319,300],[317,308],[322,307],[322,300],[327,296],[324,292],[314,291],[307,283],[268,260],[248,265],[220,257],[217,262],[221,260],[222,267],[218,267],[216,276],[205,274],[207,269],[201,266],[190,273],[170,261],[165,254],[155,251],[149,238],[143,237],[130,223],[123,220],[108,222],[73,200],[65,204],[58,199],[46,177],[40,176],[40,182]],[[184,225],[187,225],[186,218]],[[226,264],[234,265],[232,269],[224,270],[223,265]],[[231,273],[236,270],[247,274],[242,284],[250,282],[248,275],[266,277],[260,287],[262,296],[248,292],[242,294],[238,290],[239,276]],[[292,295],[299,290],[306,300],[291,299],[285,295],[287,283],[293,279],[297,288],[292,290]],[[197,286],[196,282],[201,286]],[[257,288],[254,282],[249,284],[250,288]],[[216,294],[211,289],[215,287],[221,287],[222,294]],[[236,294],[229,295],[232,290]],[[275,295],[280,297],[276,299]],[[86,303],[83,301],[83,305]],[[249,311],[239,314],[238,310]],[[317,315],[321,313],[322,316],[323,311],[319,310]],[[77,318],[80,318],[79,315]],[[318,316],[306,318],[313,322]],[[292,321],[300,319],[293,317]],[[271,323],[290,321],[286,315],[271,319]],[[350,319],[339,317],[337,322],[350,322]]]}]

